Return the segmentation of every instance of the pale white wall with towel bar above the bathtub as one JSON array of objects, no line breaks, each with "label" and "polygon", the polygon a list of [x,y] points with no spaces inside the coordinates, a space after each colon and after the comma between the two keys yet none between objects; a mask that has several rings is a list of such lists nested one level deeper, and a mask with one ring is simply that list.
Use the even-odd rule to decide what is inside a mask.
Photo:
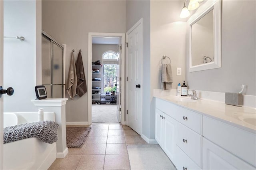
[{"label": "pale white wall with towel bar above the bathtub", "polygon": [[4,96],[4,111],[35,111],[31,100],[36,98],[36,46],[40,46],[36,43],[36,1],[4,1],[4,36],[25,38],[23,42],[4,39],[4,89],[14,88],[14,95]]}]

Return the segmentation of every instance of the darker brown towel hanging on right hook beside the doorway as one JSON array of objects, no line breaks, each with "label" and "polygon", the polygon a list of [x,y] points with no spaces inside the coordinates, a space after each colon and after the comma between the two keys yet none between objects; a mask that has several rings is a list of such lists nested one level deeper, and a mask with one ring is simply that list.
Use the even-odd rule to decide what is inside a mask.
[{"label": "darker brown towel hanging on right hook beside the doorway", "polygon": [[86,80],[84,75],[84,65],[83,65],[81,51],[79,51],[78,57],[76,59],[76,75],[77,75],[76,95],[81,97],[87,92]]}]

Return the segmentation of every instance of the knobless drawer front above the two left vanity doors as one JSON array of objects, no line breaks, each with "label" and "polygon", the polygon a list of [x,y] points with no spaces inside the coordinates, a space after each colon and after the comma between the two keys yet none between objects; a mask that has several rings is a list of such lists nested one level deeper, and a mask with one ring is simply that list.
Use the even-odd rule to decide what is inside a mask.
[{"label": "knobless drawer front above the two left vanity doors", "polygon": [[175,119],[175,115],[177,113],[176,105],[168,101],[164,101],[162,99],[156,98],[156,109],[159,109],[160,111],[164,112],[166,115]]}]

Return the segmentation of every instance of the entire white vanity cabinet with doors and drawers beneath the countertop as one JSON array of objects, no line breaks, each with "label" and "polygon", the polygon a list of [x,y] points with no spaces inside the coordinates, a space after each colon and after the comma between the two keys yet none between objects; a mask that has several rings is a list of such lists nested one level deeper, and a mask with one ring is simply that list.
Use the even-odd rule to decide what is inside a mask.
[{"label": "entire white vanity cabinet with doors and drawers beneath the countertop", "polygon": [[195,111],[156,98],[155,139],[178,170],[256,169],[256,132]]}]

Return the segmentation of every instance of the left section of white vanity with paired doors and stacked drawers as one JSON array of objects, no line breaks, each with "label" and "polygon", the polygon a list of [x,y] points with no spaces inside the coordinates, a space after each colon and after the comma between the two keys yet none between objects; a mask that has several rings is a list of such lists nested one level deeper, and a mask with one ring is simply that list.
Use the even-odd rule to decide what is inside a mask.
[{"label": "left section of white vanity with paired doors and stacked drawers", "polygon": [[[178,118],[177,118],[178,117]],[[180,118],[181,117],[181,118]],[[183,117],[186,117],[183,119]],[[176,118],[176,119],[175,119]],[[200,169],[202,164],[202,116],[156,99],[155,139],[177,169]],[[199,125],[199,128],[197,128]]]}]

